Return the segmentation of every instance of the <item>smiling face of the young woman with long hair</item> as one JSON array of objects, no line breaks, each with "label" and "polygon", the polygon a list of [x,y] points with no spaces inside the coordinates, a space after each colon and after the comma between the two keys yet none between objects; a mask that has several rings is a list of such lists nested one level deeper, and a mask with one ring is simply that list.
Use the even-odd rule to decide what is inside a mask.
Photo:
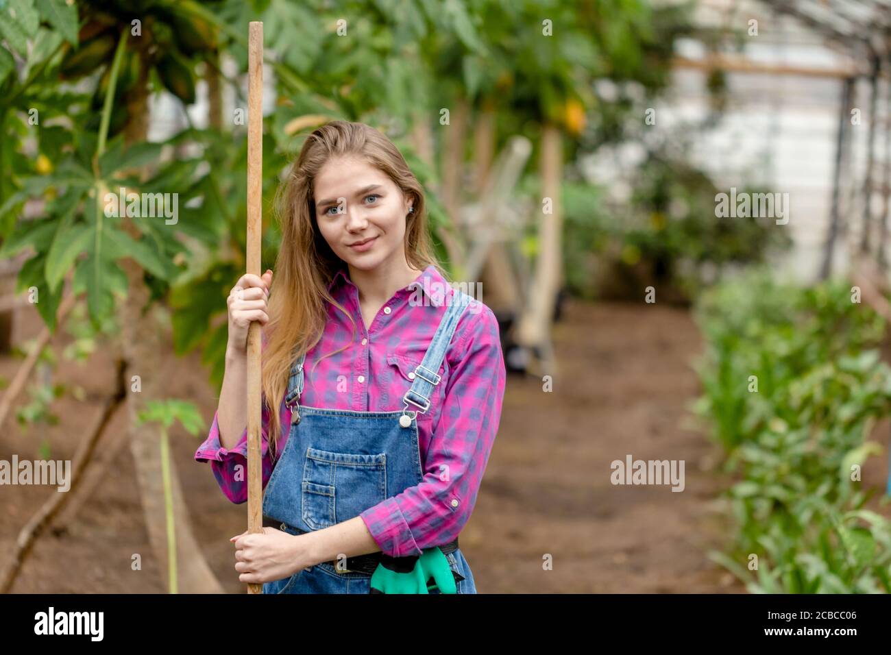
[{"label": "smiling face of the young woman with long hair", "polygon": [[328,160],[313,184],[315,220],[331,250],[371,270],[405,260],[405,216],[412,201],[378,168],[355,157]]}]

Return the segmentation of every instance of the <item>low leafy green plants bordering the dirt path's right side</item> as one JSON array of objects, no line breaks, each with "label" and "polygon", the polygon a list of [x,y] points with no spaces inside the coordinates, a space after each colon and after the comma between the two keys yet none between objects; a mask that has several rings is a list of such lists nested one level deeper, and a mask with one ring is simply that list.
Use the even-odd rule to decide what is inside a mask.
[{"label": "low leafy green plants bordering the dirt path's right side", "polygon": [[[872,348],[882,319],[850,288],[756,271],[697,307],[707,348],[695,412],[739,477],[731,551],[711,556],[754,592],[891,592],[891,522],[863,509],[876,490],[854,475],[882,452],[867,439],[891,415],[891,367]],[[750,553],[755,574],[740,565]]]}]

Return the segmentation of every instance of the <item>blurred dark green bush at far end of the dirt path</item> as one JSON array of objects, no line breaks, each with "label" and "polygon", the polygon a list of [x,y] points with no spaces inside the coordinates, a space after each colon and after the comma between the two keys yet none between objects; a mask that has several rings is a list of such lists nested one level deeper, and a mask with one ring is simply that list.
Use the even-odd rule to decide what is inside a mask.
[{"label": "blurred dark green bush at far end of the dirt path", "polygon": [[615,182],[626,183],[619,200],[593,184],[563,185],[564,276],[582,297],[637,298],[652,284],[691,299],[727,266],[763,261],[789,243],[772,220],[715,217],[712,180],[664,151]]}]

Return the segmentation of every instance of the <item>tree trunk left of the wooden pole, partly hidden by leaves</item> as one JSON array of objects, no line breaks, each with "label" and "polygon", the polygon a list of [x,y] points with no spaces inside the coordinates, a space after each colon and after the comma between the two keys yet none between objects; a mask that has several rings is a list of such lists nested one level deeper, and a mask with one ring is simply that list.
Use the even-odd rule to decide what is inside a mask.
[{"label": "tree trunk left of the wooden pole, partly hidden by leaves", "polygon": [[[143,71],[145,66],[142,67]],[[128,94],[127,111],[130,119],[125,127],[124,137],[127,144],[145,140],[148,132],[148,93],[147,78],[143,78]],[[135,239],[138,231],[128,218],[124,227]],[[160,434],[157,426],[152,424],[137,425],[137,416],[145,408],[149,400],[165,397],[168,381],[159,371],[159,353],[163,352],[161,334],[165,325],[156,320],[155,314],[143,308],[149,304],[150,291],[143,282],[143,269],[131,258],[121,262],[121,268],[127,274],[128,291],[119,308],[121,325],[121,351],[127,363],[125,380],[129,386],[127,391],[127,415],[129,417],[130,452],[133,454],[136,468],[136,479],[143,505],[145,528],[149,534],[149,542],[155,559],[159,563],[159,571],[167,580],[168,541],[167,516],[164,507],[164,487],[161,479]],[[133,389],[133,376],[140,380],[139,391]],[[176,465],[171,460],[172,495],[174,504],[174,524],[176,528],[176,560],[178,585],[184,594],[222,594],[223,588],[208,567],[204,554],[192,533],[192,522],[176,475]]]}]

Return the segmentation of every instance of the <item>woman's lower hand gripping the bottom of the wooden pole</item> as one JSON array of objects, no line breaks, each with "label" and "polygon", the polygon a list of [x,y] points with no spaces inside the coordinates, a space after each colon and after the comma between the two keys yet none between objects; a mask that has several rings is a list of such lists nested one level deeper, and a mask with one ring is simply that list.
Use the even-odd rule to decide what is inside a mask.
[{"label": "woman's lower hand gripping the bottom of the wooden pole", "polygon": [[262,533],[245,530],[233,536],[229,541],[235,544],[235,570],[241,574],[238,579],[244,583],[273,582],[314,566],[304,537],[275,528],[263,528]]}]

